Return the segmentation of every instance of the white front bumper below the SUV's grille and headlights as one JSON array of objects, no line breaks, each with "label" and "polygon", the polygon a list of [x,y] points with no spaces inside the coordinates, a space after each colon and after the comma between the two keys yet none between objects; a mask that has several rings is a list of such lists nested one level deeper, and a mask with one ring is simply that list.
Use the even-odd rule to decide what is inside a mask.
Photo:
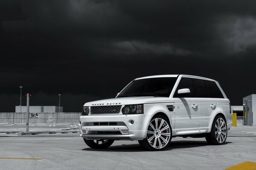
[{"label": "white front bumper below the SUV's grille and headlights", "polygon": [[[85,139],[141,140],[146,138],[150,116],[80,116],[79,134]],[[132,125],[129,121],[133,120]]]}]

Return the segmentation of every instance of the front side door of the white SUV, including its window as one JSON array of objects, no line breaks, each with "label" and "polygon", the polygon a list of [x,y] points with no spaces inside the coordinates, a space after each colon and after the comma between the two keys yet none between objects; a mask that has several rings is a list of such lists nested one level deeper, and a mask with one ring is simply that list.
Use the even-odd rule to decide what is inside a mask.
[{"label": "front side door of the white SUV, including its window", "polygon": [[[177,94],[179,89],[188,88],[190,94]],[[182,77],[174,93],[176,135],[199,132],[199,100],[194,98],[193,81]]]}]

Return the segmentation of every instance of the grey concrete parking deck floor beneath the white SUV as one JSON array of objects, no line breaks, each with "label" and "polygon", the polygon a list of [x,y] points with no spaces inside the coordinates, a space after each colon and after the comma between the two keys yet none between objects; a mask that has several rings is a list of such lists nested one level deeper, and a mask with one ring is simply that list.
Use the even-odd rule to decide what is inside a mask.
[{"label": "grey concrete parking deck floor beneath the white SUV", "polygon": [[208,145],[204,138],[173,138],[167,150],[158,152],[142,149],[137,141],[94,150],[78,133],[0,134],[0,148],[0,170],[223,170],[256,162],[256,127],[232,127],[221,146]]}]

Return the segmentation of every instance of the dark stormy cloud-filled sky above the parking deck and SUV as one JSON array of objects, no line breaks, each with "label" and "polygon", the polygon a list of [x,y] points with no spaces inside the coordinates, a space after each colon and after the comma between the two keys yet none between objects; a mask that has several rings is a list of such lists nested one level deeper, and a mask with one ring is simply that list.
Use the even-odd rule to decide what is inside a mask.
[{"label": "dark stormy cloud-filled sky above the parking deck and SUV", "polygon": [[35,103],[66,94],[64,102],[79,103],[65,105],[73,111],[115,96],[136,77],[194,74],[217,79],[241,105],[256,85],[237,83],[256,74],[255,7],[246,0],[2,0],[0,99],[23,85]]}]

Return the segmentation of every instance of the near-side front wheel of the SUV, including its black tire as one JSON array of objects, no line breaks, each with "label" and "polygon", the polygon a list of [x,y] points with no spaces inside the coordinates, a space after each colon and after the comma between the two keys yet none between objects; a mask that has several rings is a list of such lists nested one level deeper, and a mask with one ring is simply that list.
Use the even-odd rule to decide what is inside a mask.
[{"label": "near-side front wheel of the SUV, including its black tire", "polygon": [[139,140],[139,144],[146,150],[165,150],[171,142],[171,125],[164,116],[154,116],[147,128],[147,137]]}]

